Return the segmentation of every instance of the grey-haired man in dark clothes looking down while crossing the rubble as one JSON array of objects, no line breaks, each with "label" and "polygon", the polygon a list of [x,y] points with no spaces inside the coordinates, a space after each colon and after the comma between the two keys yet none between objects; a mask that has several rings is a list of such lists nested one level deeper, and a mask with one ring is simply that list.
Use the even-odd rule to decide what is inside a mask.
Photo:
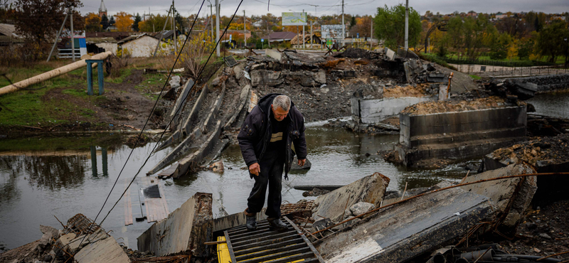
[{"label": "grey-haired man in dark clothes looking down while crossing the rubble", "polygon": [[282,171],[288,180],[288,172],[294,157],[291,145],[298,155],[298,165],[304,166],[307,158],[307,142],[304,139],[304,117],[285,95],[272,93],[262,97],[252,109],[237,136],[241,154],[249,167],[249,175],[255,178],[249,198],[247,229],[257,229],[255,215],[265,205],[267,183],[267,221],[276,230],[286,230],[280,220]]}]

